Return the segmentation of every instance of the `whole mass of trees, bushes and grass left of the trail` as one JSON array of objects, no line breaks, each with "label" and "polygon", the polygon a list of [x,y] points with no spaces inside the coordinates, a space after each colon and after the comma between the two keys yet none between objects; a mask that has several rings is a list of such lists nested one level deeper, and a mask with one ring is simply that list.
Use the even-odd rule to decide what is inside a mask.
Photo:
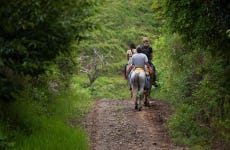
[{"label": "whole mass of trees, bushes and grass left of the trail", "polygon": [[[96,28],[89,17],[98,2],[1,1],[1,148],[31,149],[33,144],[44,142],[46,136],[56,138],[47,140],[54,146],[47,148],[55,149],[57,143],[70,149],[88,148],[86,138],[82,139],[82,148],[76,147],[79,143],[75,140],[85,137],[85,133],[69,127],[67,120],[86,111],[79,108],[84,106],[79,105],[81,98],[88,105],[89,96],[76,96],[70,90],[72,74],[79,68],[73,43],[78,43],[85,31]],[[73,140],[63,143],[64,133],[59,130]]]}]

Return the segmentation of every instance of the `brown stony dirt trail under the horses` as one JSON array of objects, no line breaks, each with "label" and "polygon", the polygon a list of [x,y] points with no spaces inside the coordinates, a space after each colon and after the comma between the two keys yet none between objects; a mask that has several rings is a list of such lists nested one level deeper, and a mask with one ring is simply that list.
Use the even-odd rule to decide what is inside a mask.
[{"label": "brown stony dirt trail under the horses", "polygon": [[98,100],[86,128],[92,150],[185,150],[172,143],[164,128],[170,106],[151,100],[151,107],[134,110],[128,99]]}]

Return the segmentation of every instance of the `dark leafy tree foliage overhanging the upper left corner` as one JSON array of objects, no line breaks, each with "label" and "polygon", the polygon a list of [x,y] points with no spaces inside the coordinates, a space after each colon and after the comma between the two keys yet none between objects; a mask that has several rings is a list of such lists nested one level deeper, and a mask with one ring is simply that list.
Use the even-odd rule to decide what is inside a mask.
[{"label": "dark leafy tree foliage overhanging the upper left corner", "polygon": [[20,84],[14,76],[37,76],[47,70],[60,53],[71,51],[73,40],[94,28],[91,1],[10,0],[0,6],[1,99]]}]

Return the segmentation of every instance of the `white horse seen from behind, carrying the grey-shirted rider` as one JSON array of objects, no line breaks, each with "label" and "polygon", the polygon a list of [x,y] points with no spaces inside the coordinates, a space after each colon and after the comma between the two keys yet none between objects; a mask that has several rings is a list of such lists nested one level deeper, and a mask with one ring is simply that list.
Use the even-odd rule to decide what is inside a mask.
[{"label": "white horse seen from behind, carrying the grey-shirted rider", "polygon": [[142,68],[135,68],[131,72],[131,87],[132,87],[132,99],[135,103],[135,109],[141,111],[143,99],[144,87],[145,87],[145,71]]}]

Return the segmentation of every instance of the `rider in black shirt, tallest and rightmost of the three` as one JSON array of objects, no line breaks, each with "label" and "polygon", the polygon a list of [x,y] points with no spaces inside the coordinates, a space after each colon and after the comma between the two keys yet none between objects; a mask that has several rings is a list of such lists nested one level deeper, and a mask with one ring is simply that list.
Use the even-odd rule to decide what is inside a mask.
[{"label": "rider in black shirt, tallest and rightmost of the three", "polygon": [[153,69],[153,74],[151,75],[151,77],[153,78],[153,85],[155,87],[157,87],[157,82],[156,82],[156,69],[155,69],[155,66],[153,65],[153,63],[151,62],[152,58],[153,58],[153,49],[152,47],[150,46],[149,44],[149,39],[148,37],[143,37],[142,39],[142,43],[143,43],[143,46],[142,46],[142,53],[144,53],[147,57],[148,57],[148,63],[149,65],[152,67]]}]

